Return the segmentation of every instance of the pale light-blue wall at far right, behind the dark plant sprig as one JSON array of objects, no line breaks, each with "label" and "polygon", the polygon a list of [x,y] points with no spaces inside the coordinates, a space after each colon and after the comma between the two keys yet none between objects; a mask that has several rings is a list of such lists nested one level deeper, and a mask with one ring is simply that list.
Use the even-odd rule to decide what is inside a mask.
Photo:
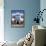
[{"label": "pale light-blue wall at far right, behind the dark plant sprig", "polygon": [[[46,9],[46,0],[40,0],[40,10]],[[43,22],[40,21],[40,25],[46,27],[46,11],[42,15]],[[45,35],[46,36],[46,35]],[[46,39],[46,38],[45,38]],[[46,40],[45,40],[46,41]],[[46,43],[46,42],[45,42]]]}]

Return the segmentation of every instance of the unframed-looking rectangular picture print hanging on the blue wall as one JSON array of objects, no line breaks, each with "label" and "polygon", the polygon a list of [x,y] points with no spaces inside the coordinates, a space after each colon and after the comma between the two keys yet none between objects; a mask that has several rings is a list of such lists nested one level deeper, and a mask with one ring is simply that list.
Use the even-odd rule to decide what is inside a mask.
[{"label": "unframed-looking rectangular picture print hanging on the blue wall", "polygon": [[24,10],[11,10],[11,26],[24,27]]}]

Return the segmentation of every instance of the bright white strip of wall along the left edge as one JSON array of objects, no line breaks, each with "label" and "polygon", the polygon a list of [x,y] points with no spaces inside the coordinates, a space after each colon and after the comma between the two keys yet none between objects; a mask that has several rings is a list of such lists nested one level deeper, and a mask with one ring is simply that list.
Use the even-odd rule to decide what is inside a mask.
[{"label": "bright white strip of wall along the left edge", "polygon": [[4,41],[4,3],[0,0],[0,42]]}]

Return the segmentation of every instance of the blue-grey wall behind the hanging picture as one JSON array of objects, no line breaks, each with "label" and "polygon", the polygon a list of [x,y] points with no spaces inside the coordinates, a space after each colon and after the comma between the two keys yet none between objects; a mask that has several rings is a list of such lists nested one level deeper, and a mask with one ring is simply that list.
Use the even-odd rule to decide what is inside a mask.
[{"label": "blue-grey wall behind the hanging picture", "polygon": [[[25,27],[11,28],[11,10],[25,10]],[[40,10],[40,0],[4,0],[4,38],[18,41],[32,29],[33,19]]]}]

